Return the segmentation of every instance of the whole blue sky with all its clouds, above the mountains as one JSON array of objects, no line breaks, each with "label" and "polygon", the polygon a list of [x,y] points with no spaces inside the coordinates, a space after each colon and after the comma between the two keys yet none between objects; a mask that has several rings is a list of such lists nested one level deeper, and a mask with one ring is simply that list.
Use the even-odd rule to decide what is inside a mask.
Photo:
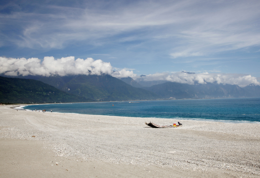
[{"label": "whole blue sky with all its clouds, above the mountains", "polygon": [[259,0],[0,1],[0,73],[260,85],[259,9]]}]

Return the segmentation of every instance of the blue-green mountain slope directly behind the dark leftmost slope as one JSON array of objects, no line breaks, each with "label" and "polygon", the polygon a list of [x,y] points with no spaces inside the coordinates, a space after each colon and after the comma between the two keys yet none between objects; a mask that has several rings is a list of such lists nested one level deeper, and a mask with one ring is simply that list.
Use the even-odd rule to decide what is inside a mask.
[{"label": "blue-green mountain slope directly behind the dark leftmost slope", "polygon": [[110,75],[77,75],[43,77],[40,81],[63,91],[97,101],[157,99],[159,96],[145,89],[134,88]]}]

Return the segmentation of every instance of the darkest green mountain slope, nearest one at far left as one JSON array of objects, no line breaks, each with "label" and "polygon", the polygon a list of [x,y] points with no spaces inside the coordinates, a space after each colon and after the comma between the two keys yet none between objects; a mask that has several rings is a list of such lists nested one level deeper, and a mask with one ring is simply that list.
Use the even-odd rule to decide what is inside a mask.
[{"label": "darkest green mountain slope, nearest one at far left", "polygon": [[32,79],[0,77],[0,102],[54,103],[87,102],[79,97]]}]

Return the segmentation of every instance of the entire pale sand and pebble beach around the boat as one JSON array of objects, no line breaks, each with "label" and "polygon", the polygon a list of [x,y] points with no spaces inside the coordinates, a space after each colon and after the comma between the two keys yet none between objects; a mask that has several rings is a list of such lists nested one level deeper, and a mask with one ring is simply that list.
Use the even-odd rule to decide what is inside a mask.
[{"label": "entire pale sand and pebble beach around the boat", "polygon": [[[0,106],[0,178],[260,178],[260,124]],[[152,121],[183,127],[154,129]]]}]

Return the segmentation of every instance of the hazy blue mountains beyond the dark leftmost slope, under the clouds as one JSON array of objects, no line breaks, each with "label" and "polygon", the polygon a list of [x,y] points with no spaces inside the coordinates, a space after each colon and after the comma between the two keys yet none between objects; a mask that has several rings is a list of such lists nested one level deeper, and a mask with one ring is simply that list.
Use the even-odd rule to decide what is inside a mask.
[{"label": "hazy blue mountains beyond the dark leftmost slope, under the clouds", "polygon": [[167,81],[143,81],[144,86],[150,87],[142,87],[141,81],[137,83],[130,77],[120,80],[110,75],[24,78],[34,78],[87,101],[260,97],[260,86],[254,85],[241,88],[237,85],[216,83],[189,85]]}]

